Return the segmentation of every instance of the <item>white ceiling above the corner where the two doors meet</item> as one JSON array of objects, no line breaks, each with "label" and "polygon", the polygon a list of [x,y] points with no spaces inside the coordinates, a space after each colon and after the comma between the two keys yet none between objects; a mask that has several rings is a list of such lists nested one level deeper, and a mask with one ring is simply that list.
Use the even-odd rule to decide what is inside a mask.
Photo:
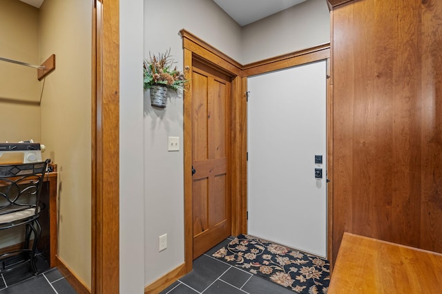
[{"label": "white ceiling above the corner where the two doors meet", "polygon": [[237,23],[247,25],[307,0],[213,0]]}]

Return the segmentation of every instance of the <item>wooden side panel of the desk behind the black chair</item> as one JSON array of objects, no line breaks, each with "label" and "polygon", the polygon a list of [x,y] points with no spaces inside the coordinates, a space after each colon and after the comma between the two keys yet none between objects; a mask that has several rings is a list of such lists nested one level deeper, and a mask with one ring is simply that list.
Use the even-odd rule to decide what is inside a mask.
[{"label": "wooden side panel of the desk behind the black chair", "polygon": [[57,255],[57,173],[46,174],[44,182],[46,185],[41,190],[40,201],[46,207],[40,212],[41,238],[37,248],[53,267],[56,266]]}]

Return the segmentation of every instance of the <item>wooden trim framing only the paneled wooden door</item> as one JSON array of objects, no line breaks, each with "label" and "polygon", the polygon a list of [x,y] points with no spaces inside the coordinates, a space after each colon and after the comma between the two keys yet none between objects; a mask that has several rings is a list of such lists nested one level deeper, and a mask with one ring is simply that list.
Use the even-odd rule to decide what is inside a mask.
[{"label": "wooden trim framing only the paneled wooden door", "polygon": [[[242,152],[241,147],[245,144],[241,141],[245,137],[243,134],[238,134],[240,128],[237,127],[237,124],[244,126],[245,120],[238,122],[238,119],[244,119],[242,112],[246,109],[245,88],[243,83],[240,83],[242,81],[241,65],[186,30],[181,30],[180,34],[183,39],[184,66],[189,66],[189,76],[193,73],[192,63],[196,59],[231,77],[231,121],[229,122],[231,125],[231,231],[232,234],[241,233],[244,228],[245,211],[242,213],[238,213],[238,211],[241,212],[244,207],[242,199],[245,194],[242,195],[242,193],[245,190],[241,189],[243,175],[240,171],[247,164],[245,160],[242,160],[245,159],[245,153],[243,156],[238,155]],[[191,93],[192,81],[190,80],[189,89],[184,92],[184,267],[186,273],[191,271],[193,263]],[[238,116],[239,113],[242,115]]]}]

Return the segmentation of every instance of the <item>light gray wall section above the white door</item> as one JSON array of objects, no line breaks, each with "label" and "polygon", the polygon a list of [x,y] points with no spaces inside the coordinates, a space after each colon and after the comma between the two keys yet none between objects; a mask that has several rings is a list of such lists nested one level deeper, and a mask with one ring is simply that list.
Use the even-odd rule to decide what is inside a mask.
[{"label": "light gray wall section above the white door", "polygon": [[244,26],[242,64],[314,47],[330,41],[325,0],[308,0]]}]

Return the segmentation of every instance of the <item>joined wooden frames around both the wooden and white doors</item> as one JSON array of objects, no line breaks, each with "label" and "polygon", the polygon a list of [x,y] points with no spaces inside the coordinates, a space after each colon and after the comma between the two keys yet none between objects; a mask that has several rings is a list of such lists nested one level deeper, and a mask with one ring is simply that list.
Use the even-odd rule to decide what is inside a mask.
[{"label": "joined wooden frames around both the wooden and white doors", "polygon": [[[327,61],[327,178],[333,170],[333,103],[330,77],[330,43],[307,50],[291,52],[256,63],[241,65],[209,45],[198,36],[181,30],[184,66],[192,74],[193,58],[224,70],[232,77],[231,104],[231,233],[247,233],[247,77],[282,70],[287,67],[315,61]],[[193,268],[193,213],[192,213],[192,121],[191,87],[184,92],[184,264],[174,271],[175,277],[189,273]],[[332,264],[332,181],[327,187],[327,257]],[[173,277],[169,276],[173,280]]]}]

